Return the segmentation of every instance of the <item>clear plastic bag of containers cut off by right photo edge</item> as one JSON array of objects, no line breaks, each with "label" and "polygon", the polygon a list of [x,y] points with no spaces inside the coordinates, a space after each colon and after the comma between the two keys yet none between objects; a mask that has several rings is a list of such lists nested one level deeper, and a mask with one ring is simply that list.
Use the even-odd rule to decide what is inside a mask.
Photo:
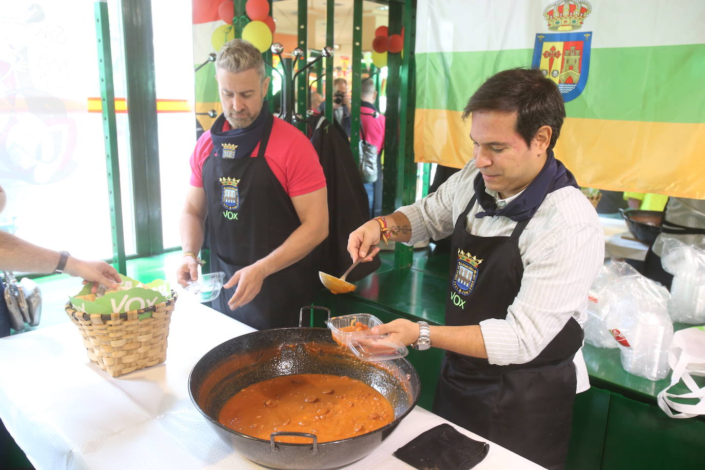
[{"label": "clear plastic bag of containers cut off by right photo edge", "polygon": [[661,265],[673,274],[668,302],[670,319],[705,323],[705,250],[664,237]]}]

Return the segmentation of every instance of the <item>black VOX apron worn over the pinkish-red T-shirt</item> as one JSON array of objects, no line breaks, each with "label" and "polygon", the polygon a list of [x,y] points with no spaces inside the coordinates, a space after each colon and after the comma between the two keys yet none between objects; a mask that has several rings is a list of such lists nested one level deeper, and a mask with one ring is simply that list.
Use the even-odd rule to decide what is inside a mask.
[{"label": "black VOX apron worn over the pinkish-red T-shirt", "polygon": [[[203,163],[211,271],[225,271],[226,279],[269,255],[301,225],[290,197],[264,159],[274,123],[271,114],[266,114],[257,156],[233,149],[237,137],[213,135],[213,153]],[[222,126],[223,120],[221,115],[213,129],[221,129],[216,125]],[[314,275],[307,255],[265,278],[252,302],[232,311],[228,301],[235,285],[223,289],[213,308],[258,330],[298,326],[299,309],[312,301]]]}]

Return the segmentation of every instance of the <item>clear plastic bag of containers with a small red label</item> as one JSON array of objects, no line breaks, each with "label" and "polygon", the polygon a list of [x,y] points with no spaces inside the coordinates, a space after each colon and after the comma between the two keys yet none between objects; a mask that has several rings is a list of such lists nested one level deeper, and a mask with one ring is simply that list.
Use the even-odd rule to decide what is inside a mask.
[{"label": "clear plastic bag of containers with a small red label", "polygon": [[[598,313],[593,309],[590,344],[607,345],[604,328],[620,348],[625,371],[658,381],[668,375],[668,350],[673,323],[668,316],[668,290],[621,261],[608,261],[593,284]],[[589,302],[595,303],[595,302]],[[592,334],[595,331],[596,333]],[[598,346],[608,347],[608,346]]]}]

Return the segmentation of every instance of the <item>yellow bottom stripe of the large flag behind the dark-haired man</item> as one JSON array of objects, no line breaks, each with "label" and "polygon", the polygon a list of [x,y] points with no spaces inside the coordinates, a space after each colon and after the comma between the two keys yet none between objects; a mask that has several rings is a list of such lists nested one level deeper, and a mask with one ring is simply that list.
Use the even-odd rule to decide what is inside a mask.
[{"label": "yellow bottom stripe of the large flag behind the dark-haired man", "polygon": [[[416,138],[417,162],[462,168],[472,159],[470,118],[464,123],[461,114],[442,109],[415,111],[415,135],[448,132],[449,137]],[[701,149],[705,149],[703,123],[566,118],[556,144],[556,158],[585,187],[705,199]],[[670,165],[676,155],[678,166]]]}]

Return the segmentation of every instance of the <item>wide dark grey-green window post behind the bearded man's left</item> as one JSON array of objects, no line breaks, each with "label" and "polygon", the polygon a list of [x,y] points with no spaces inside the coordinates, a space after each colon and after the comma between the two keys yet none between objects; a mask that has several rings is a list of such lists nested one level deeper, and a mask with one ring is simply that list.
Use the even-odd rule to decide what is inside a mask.
[{"label": "wide dark grey-green window post behind the bearded man's left", "polygon": [[137,254],[164,251],[152,2],[121,0]]}]

